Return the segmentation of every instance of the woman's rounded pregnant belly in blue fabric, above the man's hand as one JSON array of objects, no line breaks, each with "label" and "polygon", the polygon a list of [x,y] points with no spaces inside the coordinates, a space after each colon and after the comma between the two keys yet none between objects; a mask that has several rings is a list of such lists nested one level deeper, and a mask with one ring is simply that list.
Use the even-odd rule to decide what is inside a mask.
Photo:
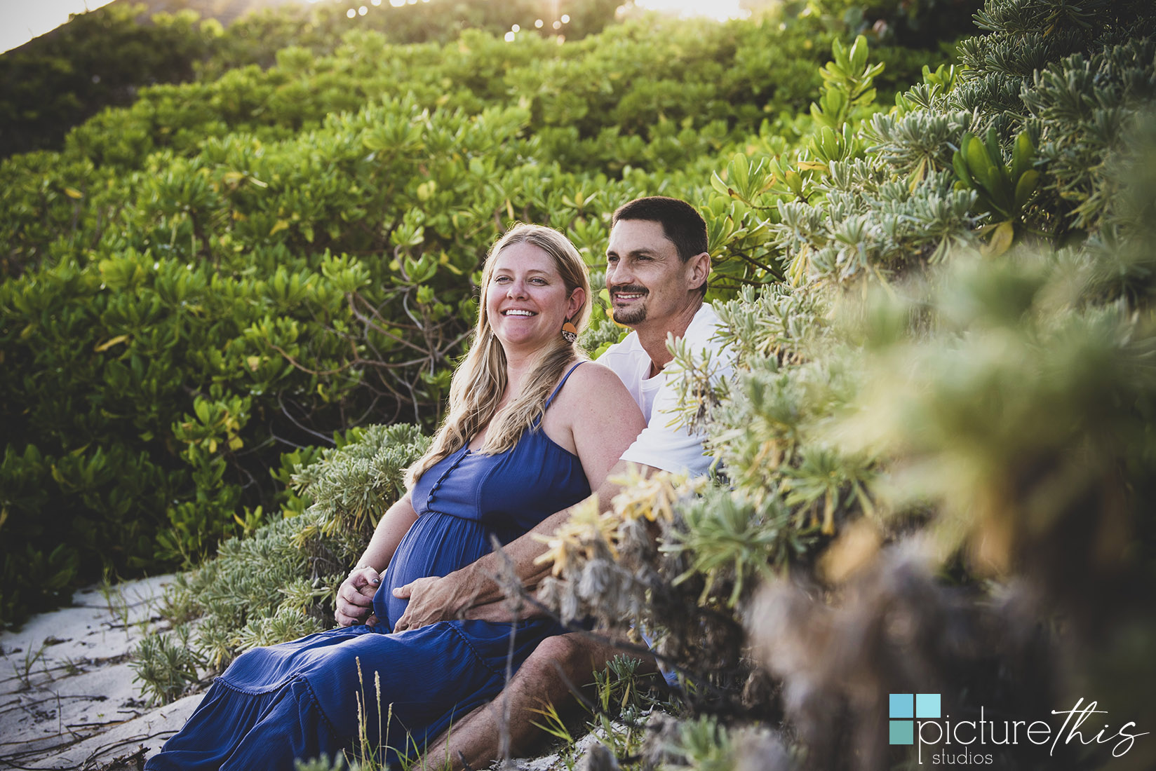
[{"label": "woman's rounded pregnant belly in blue fabric, above the man's hand", "polygon": [[490,529],[473,519],[431,511],[417,518],[401,539],[381,586],[373,596],[373,613],[391,629],[405,613],[408,600],[393,590],[417,578],[445,576],[490,551]]}]

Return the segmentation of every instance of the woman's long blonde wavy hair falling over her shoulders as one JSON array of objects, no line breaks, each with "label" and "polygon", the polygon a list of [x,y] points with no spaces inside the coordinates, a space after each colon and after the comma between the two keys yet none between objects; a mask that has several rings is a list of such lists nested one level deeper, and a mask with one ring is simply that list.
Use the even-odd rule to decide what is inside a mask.
[{"label": "woman's long blonde wavy hair falling over her shoulders", "polygon": [[554,342],[536,357],[529,379],[501,413],[497,405],[506,387],[506,357],[502,343],[490,328],[486,307],[486,292],[494,275],[494,264],[502,250],[512,244],[532,244],[554,258],[554,265],[566,287],[566,297],[575,289],[585,292],[585,301],[570,321],[580,332],[590,319],[591,294],[586,264],[570,239],[553,228],[516,224],[490,247],[482,268],[482,296],[477,309],[474,342],[466,358],[453,373],[450,385],[450,412],[433,437],[429,451],[409,467],[406,483],[413,487],[422,474],[446,455],[465,446],[480,430],[489,425],[486,444],[479,452],[498,453],[512,448],[523,431],[529,429],[546,413],[546,400],[562,379],[566,366],[586,358],[577,343],[566,342],[558,329]]}]

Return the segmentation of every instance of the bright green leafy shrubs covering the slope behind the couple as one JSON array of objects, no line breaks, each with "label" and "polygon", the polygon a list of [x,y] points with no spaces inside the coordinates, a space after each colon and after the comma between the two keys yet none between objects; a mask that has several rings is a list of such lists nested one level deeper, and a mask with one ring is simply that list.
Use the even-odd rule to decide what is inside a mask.
[{"label": "bright green leafy shrubs covering the slope behind the couple", "polygon": [[5,162],[3,618],[102,570],[195,564],[280,516],[335,431],[431,427],[505,223],[568,229],[596,265],[615,201],[796,138],[839,29],[356,29],[332,55],[144,89]]}]

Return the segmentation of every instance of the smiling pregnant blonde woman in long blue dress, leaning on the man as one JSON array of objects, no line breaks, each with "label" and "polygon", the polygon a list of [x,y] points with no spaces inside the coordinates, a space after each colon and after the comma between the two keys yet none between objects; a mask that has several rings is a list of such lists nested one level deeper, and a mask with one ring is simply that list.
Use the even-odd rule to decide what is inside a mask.
[{"label": "smiling pregnant blonde woman in long blue dress, leaning on the man", "polygon": [[146,769],[288,771],[295,758],[340,755],[360,734],[387,762],[413,757],[502,690],[507,657],[516,670],[563,631],[534,618],[394,633],[407,601],[392,590],[472,563],[491,535],[509,542],[578,503],[643,429],[618,378],[575,344],[590,295],[581,257],[557,231],[516,225],[494,245],[449,416],[341,587],[379,581],[369,623],[240,655]]}]

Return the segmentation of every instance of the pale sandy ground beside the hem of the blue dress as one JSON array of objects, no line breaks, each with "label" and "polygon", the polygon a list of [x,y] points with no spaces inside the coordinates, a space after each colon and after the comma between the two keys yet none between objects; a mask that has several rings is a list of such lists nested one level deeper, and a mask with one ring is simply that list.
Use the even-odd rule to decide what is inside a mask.
[{"label": "pale sandy ground beside the hem of the blue dress", "polygon": [[[72,607],[0,633],[0,769],[141,769],[185,724],[201,695],[151,707],[129,666],[143,633],[168,629],[157,607],[170,580],[84,588]],[[579,755],[592,740],[579,742]],[[503,766],[558,768],[557,755]]]}]

